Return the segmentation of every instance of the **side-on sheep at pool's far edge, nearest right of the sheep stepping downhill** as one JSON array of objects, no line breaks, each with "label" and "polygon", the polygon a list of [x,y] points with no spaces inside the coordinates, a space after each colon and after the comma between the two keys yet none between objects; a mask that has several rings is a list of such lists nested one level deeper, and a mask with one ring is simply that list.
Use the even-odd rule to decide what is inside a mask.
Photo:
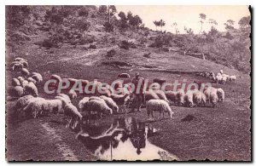
[{"label": "side-on sheep at pool's far edge, nearest right of the sheep stepping downhill", "polygon": [[86,108],[84,108],[89,115],[94,114],[96,112],[97,115],[102,117],[102,115],[111,115],[113,114],[113,110],[109,108],[106,102],[103,100],[89,100],[86,103]]}]

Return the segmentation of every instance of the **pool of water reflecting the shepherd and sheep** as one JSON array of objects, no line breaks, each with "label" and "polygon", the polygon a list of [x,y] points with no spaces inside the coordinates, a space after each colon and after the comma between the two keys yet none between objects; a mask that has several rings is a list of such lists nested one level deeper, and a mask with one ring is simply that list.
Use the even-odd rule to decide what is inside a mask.
[{"label": "pool of water reflecting the shepherd and sheep", "polygon": [[84,123],[78,139],[102,160],[177,159],[148,141],[154,135],[157,129],[150,124],[122,117]]}]

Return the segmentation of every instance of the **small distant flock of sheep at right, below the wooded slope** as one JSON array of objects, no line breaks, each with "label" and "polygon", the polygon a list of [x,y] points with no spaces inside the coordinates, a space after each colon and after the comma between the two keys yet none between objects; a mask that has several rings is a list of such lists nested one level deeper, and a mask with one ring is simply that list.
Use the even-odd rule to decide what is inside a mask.
[{"label": "small distant flock of sheep at right, below the wooded slope", "polygon": [[207,77],[215,83],[221,83],[221,84],[231,83],[236,81],[235,75],[230,76],[228,74],[224,74],[223,70],[220,70],[220,72],[218,72],[216,75],[214,74],[214,72],[201,72],[199,73],[199,75],[202,77]]}]

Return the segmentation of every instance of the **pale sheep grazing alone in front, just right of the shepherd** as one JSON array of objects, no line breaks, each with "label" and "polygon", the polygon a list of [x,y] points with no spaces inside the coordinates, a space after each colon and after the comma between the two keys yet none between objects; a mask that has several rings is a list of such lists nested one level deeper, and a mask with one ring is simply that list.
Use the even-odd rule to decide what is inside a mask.
[{"label": "pale sheep grazing alone in front, just right of the shepherd", "polygon": [[148,118],[150,118],[150,115],[154,118],[153,112],[160,112],[160,114],[162,113],[163,118],[165,117],[165,112],[168,112],[170,117],[172,117],[173,114],[172,109],[166,100],[148,100],[146,108]]}]

